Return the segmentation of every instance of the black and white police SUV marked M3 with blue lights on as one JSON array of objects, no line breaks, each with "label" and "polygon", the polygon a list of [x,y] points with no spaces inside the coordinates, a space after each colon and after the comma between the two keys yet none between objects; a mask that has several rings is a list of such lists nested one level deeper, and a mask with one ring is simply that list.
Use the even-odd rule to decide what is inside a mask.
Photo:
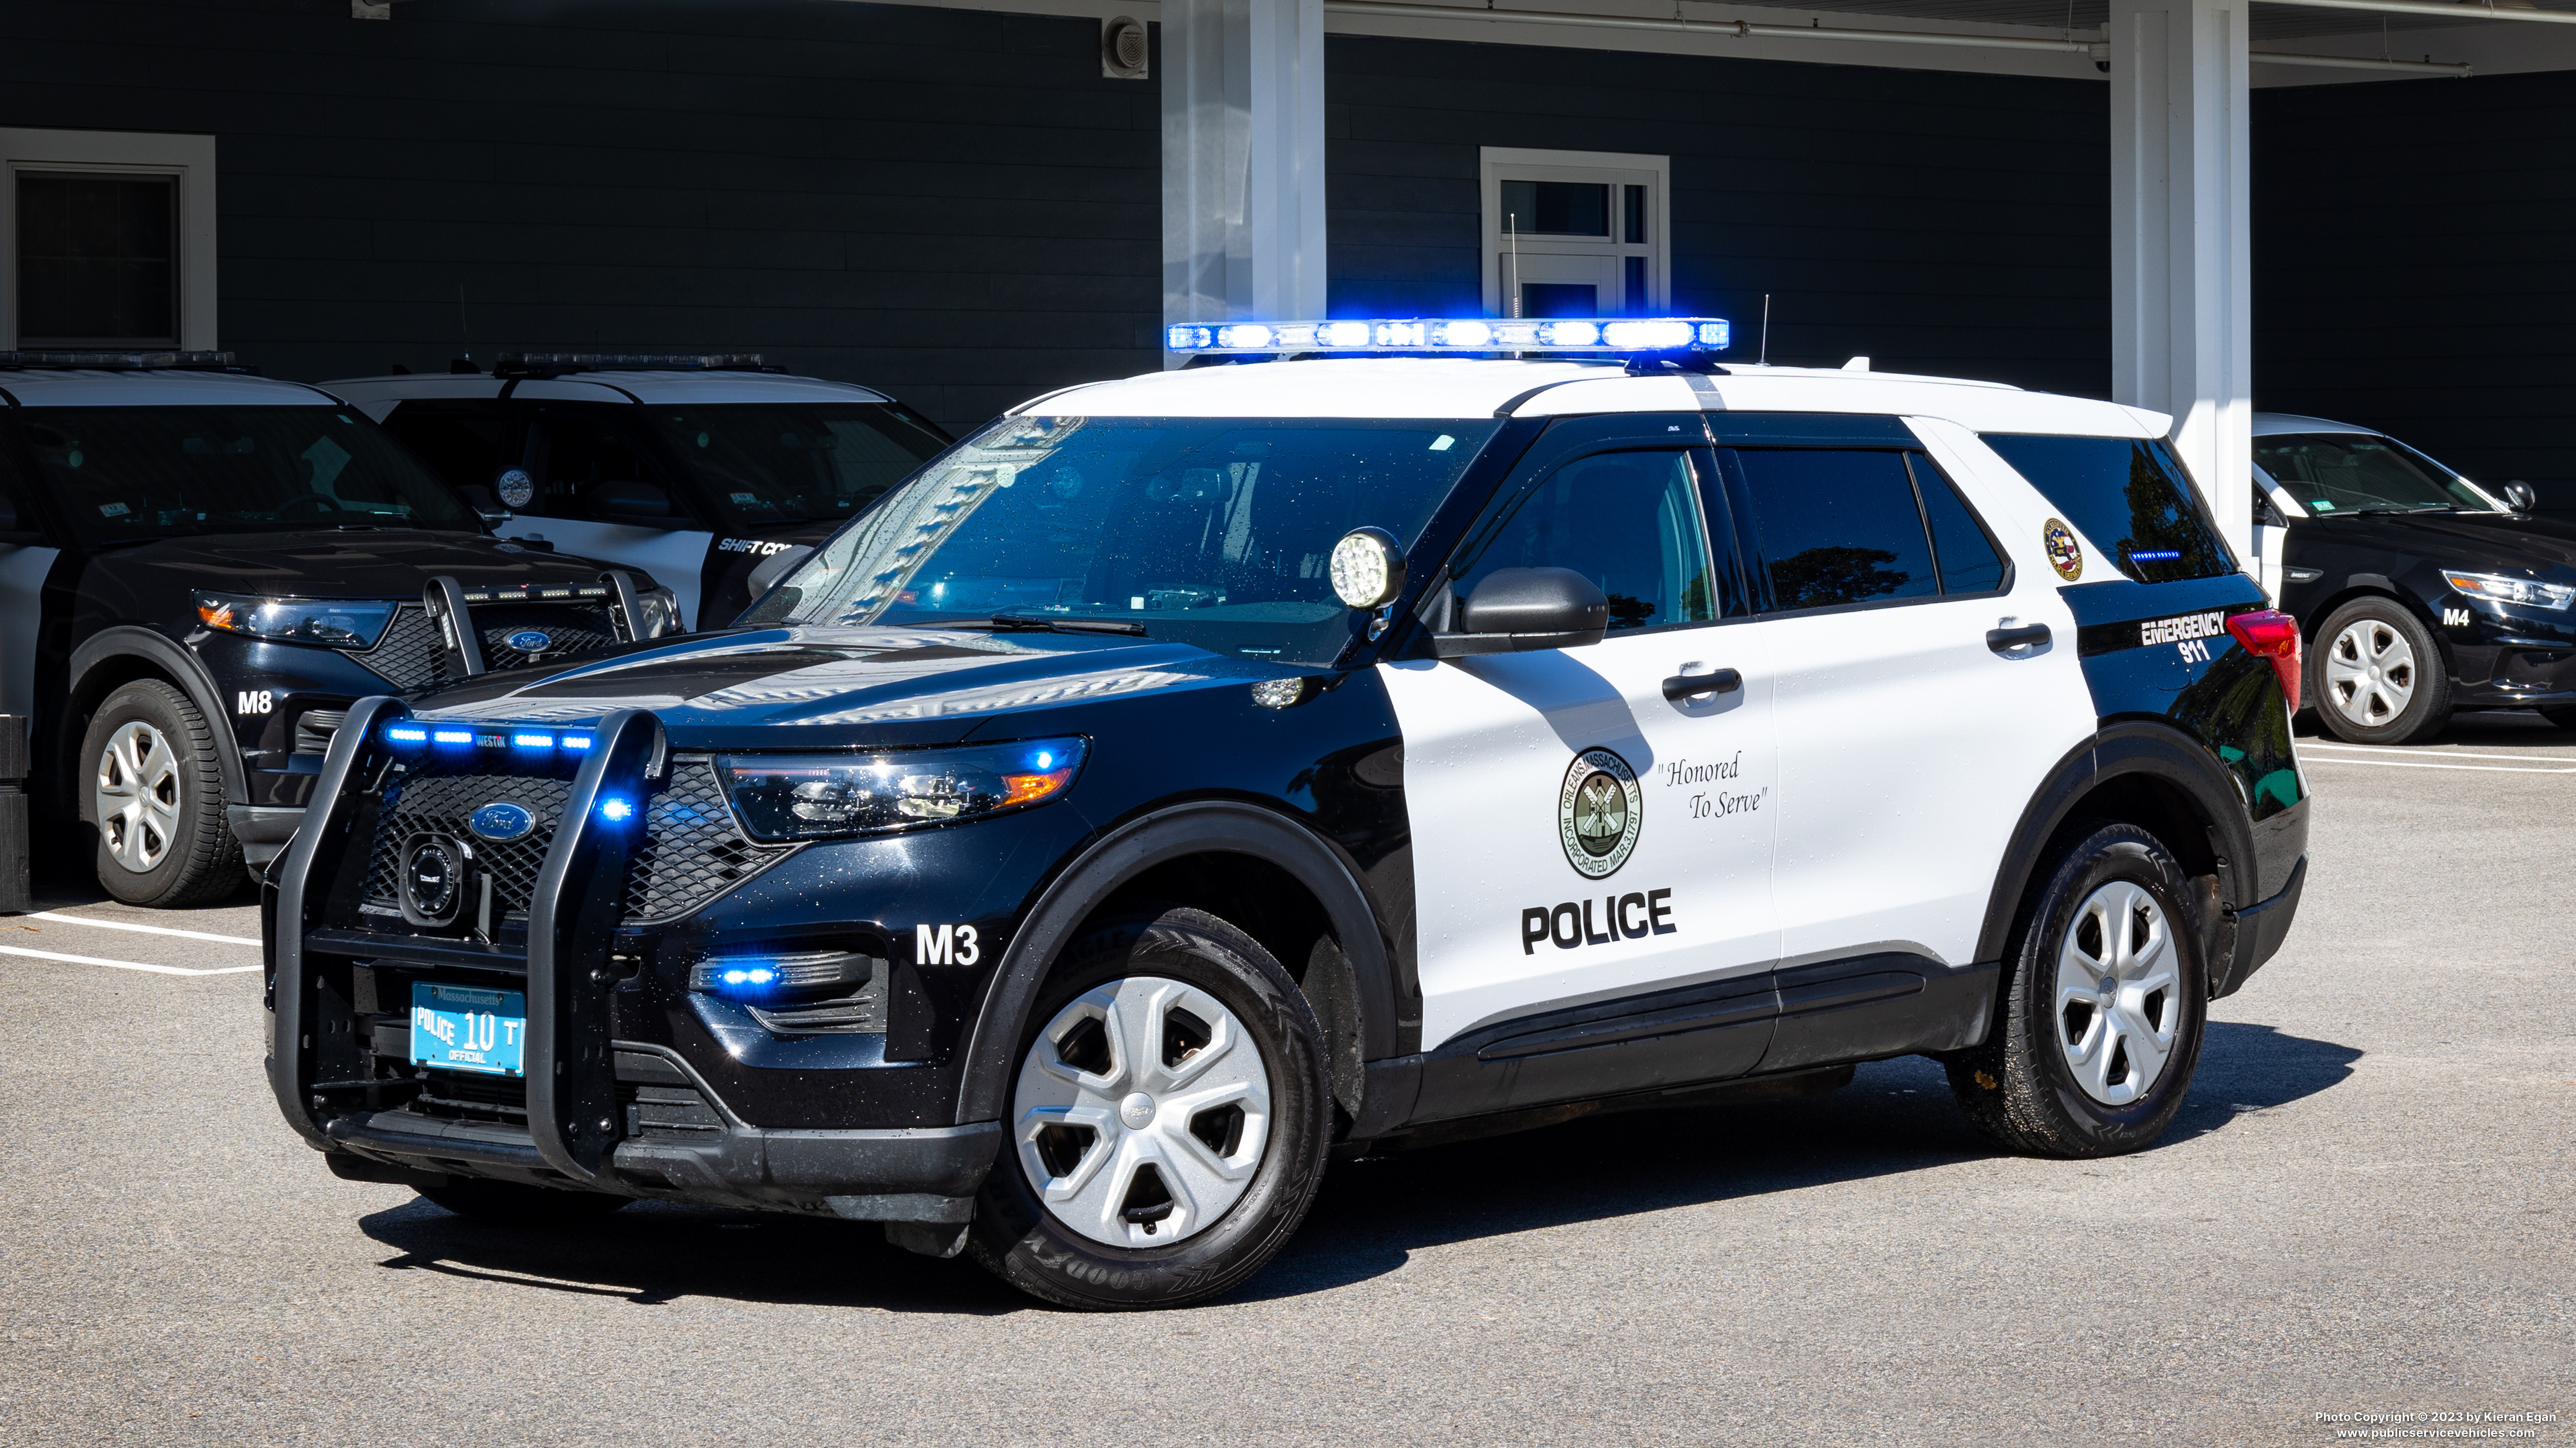
[{"label": "black and white police SUV marked M3 with blue lights on", "polygon": [[1528,1108],[1932,1054],[2009,1149],[2164,1131],[2308,830],[2164,417],[1342,327],[1432,356],[1182,330],[1257,366],[999,417],[729,631],[361,703],[268,897],[289,1123],[1100,1309]]}]

